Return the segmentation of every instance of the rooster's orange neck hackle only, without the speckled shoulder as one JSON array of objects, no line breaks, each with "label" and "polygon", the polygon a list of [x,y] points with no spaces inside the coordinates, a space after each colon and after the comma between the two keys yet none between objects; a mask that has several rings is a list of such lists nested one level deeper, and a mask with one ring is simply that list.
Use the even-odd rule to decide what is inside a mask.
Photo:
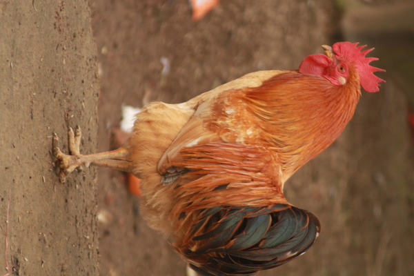
[{"label": "rooster's orange neck hackle only, without the speckled shoulder", "polygon": [[246,93],[264,144],[279,156],[283,183],[339,137],[360,97],[355,71],[342,86],[312,75],[285,75]]}]

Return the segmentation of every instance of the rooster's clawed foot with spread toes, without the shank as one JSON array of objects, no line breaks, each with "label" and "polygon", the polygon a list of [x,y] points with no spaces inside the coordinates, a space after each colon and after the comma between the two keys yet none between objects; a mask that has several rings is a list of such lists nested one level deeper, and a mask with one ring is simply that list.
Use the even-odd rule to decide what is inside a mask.
[{"label": "rooster's clawed foot with spread toes, without the shank", "polygon": [[81,169],[82,165],[88,166],[86,162],[81,158],[82,155],[79,150],[81,144],[81,128],[77,126],[75,132],[72,128],[69,128],[68,131],[69,138],[69,151],[70,155],[66,155],[58,147],[58,137],[55,132],[53,132],[53,155],[57,159],[57,165],[59,166],[59,179],[63,183],[66,181],[66,176],[75,169]]}]

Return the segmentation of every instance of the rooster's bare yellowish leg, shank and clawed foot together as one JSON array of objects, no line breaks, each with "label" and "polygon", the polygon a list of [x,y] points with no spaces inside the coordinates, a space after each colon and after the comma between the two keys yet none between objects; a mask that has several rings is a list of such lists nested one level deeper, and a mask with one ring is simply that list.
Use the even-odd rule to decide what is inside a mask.
[{"label": "rooster's bare yellowish leg, shank and clawed foot together", "polygon": [[53,132],[53,155],[59,162],[59,178],[61,182],[66,181],[66,175],[74,171],[76,168],[86,167],[90,165],[115,168],[116,170],[124,170],[130,172],[130,161],[128,160],[128,150],[126,148],[118,148],[107,152],[100,152],[94,155],[81,155],[79,146],[81,144],[81,129],[76,128],[73,132],[72,128],[68,131],[70,155],[66,155],[58,147],[58,138]]}]

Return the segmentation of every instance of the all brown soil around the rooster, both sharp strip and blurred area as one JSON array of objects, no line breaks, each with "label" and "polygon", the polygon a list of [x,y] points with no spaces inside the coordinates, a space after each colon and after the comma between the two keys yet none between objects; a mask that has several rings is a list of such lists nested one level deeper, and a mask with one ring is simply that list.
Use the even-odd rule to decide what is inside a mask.
[{"label": "all brown soil around the rooster, both sharp strip and blurred area", "polygon": [[286,185],[319,217],[319,239],[259,275],[414,275],[414,5],[370,2],[226,0],[193,22],[178,0],[0,1],[0,275],[6,262],[12,275],[185,275],[121,172],[59,183],[52,131],[62,150],[76,125],[83,153],[108,150],[122,104],[186,101],[247,72],[297,68],[340,40],[375,47],[387,83]]}]

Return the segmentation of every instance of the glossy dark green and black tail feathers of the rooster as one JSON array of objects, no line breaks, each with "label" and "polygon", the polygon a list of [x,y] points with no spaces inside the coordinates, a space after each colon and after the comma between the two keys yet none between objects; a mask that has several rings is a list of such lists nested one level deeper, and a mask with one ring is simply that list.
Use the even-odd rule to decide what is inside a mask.
[{"label": "glossy dark green and black tail feathers of the rooster", "polygon": [[315,215],[286,204],[223,206],[202,213],[208,216],[192,231],[204,228],[193,240],[205,243],[196,251],[183,252],[202,276],[252,275],[280,266],[305,253],[320,231]]}]

